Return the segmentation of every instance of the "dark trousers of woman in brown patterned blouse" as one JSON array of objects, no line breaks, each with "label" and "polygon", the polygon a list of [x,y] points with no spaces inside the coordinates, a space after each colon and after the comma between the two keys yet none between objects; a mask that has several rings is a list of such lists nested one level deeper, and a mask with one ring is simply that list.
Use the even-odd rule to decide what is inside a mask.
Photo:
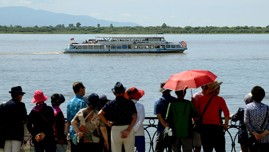
[{"label": "dark trousers of woman in brown patterned blouse", "polygon": [[100,142],[79,142],[78,149],[82,151],[103,152],[103,145]]}]

